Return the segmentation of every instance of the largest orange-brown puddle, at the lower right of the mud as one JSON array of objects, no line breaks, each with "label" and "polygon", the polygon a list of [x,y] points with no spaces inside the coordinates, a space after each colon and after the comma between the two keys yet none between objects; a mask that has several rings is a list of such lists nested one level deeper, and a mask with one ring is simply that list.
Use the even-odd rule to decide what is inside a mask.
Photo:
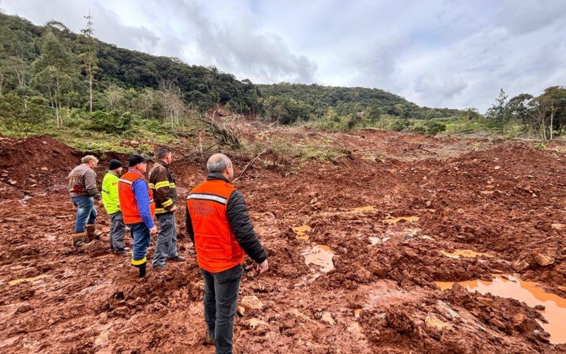
[{"label": "largest orange-brown puddle, at the lower right of the mud", "polygon": [[[539,322],[545,331],[550,333],[550,343],[566,343],[566,299],[538,288],[537,282],[525,282],[519,278],[509,275],[504,279],[501,275],[495,275],[493,281],[470,280],[458,282],[465,286],[469,292],[477,291],[482,295],[490,292],[492,295],[517,299],[530,307],[542,305],[545,307],[541,313],[548,324]],[[441,290],[450,289],[454,282],[435,282]]]}]

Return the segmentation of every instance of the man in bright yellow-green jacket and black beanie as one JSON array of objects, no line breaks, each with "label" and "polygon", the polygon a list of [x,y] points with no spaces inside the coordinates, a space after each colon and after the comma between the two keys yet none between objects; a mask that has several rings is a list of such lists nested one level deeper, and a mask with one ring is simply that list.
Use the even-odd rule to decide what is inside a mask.
[{"label": "man in bright yellow-green jacket and black beanie", "polygon": [[108,173],[102,181],[102,202],[108,216],[110,216],[110,249],[116,254],[127,256],[129,255],[128,249],[124,246],[126,225],[118,199],[118,180],[121,173],[122,163],[118,160],[110,160]]}]

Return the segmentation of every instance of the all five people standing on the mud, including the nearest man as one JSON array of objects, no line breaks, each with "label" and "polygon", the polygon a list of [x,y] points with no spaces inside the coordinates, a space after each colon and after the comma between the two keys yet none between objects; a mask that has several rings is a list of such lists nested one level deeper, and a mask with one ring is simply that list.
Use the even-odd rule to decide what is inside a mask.
[{"label": "all five people standing on the mud, including the nearest man", "polygon": [[[69,194],[77,210],[73,245],[78,248],[99,238],[95,232],[95,200],[101,200],[110,217],[110,249],[129,255],[124,244],[129,227],[133,239],[131,263],[139,269],[140,278],[146,275],[146,252],[151,236],[157,235],[153,269],[165,268],[167,259],[185,261],[177,247],[177,193],[175,178],[169,171],[173,154],[167,147],[158,147],[156,157],[147,179],[151,158],[141,154],[129,156],[128,171],[122,175],[122,163],[111,160],[102,193],[96,185],[95,156],[84,156],[81,165],[69,173]],[[243,258],[247,254],[255,261],[259,273],[265,272],[269,265],[243,194],[231,183],[232,162],[224,154],[214,154],[207,161],[207,170],[206,181],[187,195],[185,228],[195,246],[197,264],[204,278],[206,341],[214,343],[216,353],[231,353]]]}]

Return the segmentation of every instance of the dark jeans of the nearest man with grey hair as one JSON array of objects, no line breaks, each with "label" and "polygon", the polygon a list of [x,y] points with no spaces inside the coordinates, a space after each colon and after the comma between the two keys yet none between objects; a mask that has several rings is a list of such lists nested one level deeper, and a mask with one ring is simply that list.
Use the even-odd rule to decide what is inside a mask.
[{"label": "dark jeans of the nearest man with grey hair", "polygon": [[219,273],[200,269],[204,278],[204,320],[207,322],[209,337],[214,336],[216,353],[232,353],[232,335],[238,291],[243,267]]}]

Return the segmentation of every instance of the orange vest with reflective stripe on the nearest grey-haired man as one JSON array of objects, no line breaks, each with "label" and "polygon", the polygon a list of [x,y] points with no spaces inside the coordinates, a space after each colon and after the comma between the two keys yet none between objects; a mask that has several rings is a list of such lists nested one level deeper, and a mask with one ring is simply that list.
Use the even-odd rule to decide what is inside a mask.
[{"label": "orange vest with reflective stripe on the nearest grey-haired man", "polygon": [[226,181],[204,181],[187,197],[187,210],[195,232],[197,263],[210,273],[218,273],[243,262],[243,249],[236,241],[226,216],[226,204],[234,190],[236,188]]}]

